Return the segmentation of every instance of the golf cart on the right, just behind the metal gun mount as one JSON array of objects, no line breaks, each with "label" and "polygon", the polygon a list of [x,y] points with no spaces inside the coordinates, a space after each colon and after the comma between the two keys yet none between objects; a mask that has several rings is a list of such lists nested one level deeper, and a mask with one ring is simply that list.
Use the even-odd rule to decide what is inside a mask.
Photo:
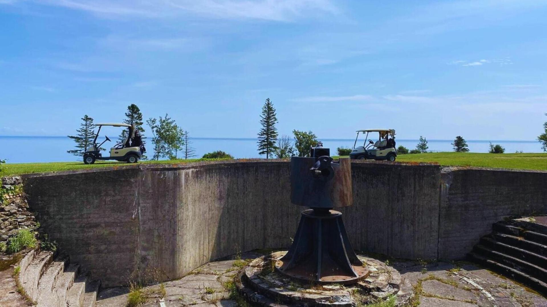
[{"label": "golf cart on the right, just behind the metal gun mount", "polygon": [[[369,133],[378,133],[379,139],[374,142],[368,139]],[[365,135],[365,142],[363,146],[357,146],[357,139],[359,139],[359,133]],[[371,136],[372,137],[372,136]],[[367,142],[368,140],[368,142]],[[353,144],[353,150],[350,153],[351,159],[359,160],[388,160],[395,161],[397,157],[397,150],[395,149],[395,130],[394,129],[365,129],[357,130],[357,137]]]}]

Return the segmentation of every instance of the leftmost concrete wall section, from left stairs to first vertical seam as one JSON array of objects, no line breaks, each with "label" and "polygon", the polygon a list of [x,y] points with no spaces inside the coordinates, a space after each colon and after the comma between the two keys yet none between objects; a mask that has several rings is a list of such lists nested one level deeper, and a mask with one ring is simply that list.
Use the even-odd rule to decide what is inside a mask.
[{"label": "leftmost concrete wall section, from left stairs to first vertical seam", "polygon": [[41,230],[103,285],[125,283],[138,261],[139,168],[27,176]]}]

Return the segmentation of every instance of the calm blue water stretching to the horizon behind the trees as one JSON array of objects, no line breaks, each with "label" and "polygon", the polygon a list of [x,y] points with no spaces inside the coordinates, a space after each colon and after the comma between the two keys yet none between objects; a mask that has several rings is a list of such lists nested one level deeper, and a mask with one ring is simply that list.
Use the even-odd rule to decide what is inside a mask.
[{"label": "calm blue water stretching to the horizon behind the trees", "polygon": [[[337,147],[352,147],[355,139],[319,139],[324,147],[336,154]],[[192,146],[198,158],[208,152],[224,151],[235,158],[265,158],[257,151],[257,139],[193,137]],[[505,147],[506,153],[523,151],[525,153],[542,152],[538,141],[467,141],[469,151],[486,153],[490,142]],[[359,141],[363,143],[363,141]],[[418,140],[397,140],[397,146],[416,147]],[[452,140],[428,140],[430,151],[452,151]],[[109,148],[110,145],[106,146]],[[74,141],[66,136],[0,136],[0,159],[8,163],[60,162],[81,159],[67,153],[74,148]],[[152,155],[152,145],[147,145],[148,155]],[[104,155],[104,154],[103,154]],[[180,156],[180,155],[179,155]]]}]

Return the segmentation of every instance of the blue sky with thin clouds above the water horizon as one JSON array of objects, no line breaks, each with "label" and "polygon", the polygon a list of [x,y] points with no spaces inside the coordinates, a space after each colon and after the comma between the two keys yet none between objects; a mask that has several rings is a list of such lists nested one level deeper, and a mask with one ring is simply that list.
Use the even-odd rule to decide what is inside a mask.
[{"label": "blue sky with thin clouds above the water horizon", "polygon": [[[169,113],[191,135],[534,140],[547,2],[0,0],[0,135]],[[148,130],[148,129],[147,129]]]}]

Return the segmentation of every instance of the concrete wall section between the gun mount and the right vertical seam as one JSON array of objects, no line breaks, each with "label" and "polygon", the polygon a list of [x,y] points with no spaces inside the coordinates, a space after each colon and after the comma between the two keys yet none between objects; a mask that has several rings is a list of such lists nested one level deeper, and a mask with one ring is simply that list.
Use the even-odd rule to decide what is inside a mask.
[{"label": "concrete wall section between the gun mount and the right vertical seam", "polygon": [[357,250],[400,258],[437,258],[438,165],[354,162],[353,206],[344,222]]}]

